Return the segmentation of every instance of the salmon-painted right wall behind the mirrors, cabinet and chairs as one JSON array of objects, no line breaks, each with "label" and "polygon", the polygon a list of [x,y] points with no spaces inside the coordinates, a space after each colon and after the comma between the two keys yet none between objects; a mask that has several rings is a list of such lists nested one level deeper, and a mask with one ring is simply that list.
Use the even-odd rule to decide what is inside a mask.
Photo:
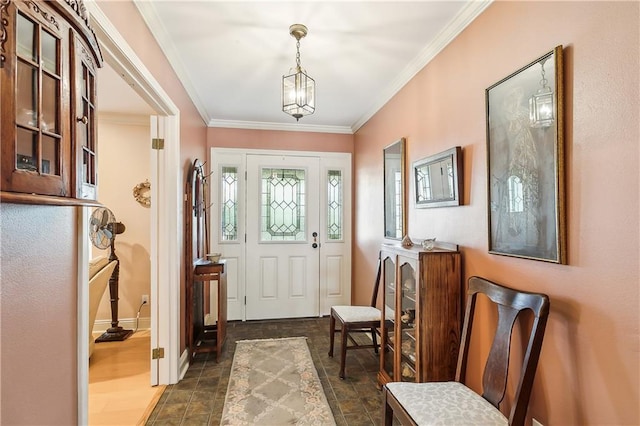
[{"label": "salmon-painted right wall behind the mirrors, cabinet and chairs", "polygon": [[[550,296],[529,408],[546,425],[640,424],[639,16],[638,2],[493,3],[355,135],[356,283],[373,282],[383,242],[383,147],[406,137],[411,165],[462,146],[464,206],[409,203],[409,235],[459,244],[465,282],[480,275]],[[490,255],[485,89],[557,45],[568,264]],[[356,301],[369,291],[357,287]],[[486,355],[488,334],[478,333],[472,350]],[[479,364],[470,366],[476,388]]]}]

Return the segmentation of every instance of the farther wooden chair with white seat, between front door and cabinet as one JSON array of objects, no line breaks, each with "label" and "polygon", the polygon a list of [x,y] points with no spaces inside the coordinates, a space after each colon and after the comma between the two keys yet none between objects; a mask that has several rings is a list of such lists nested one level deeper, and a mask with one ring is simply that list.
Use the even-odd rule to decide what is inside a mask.
[{"label": "farther wooden chair with white seat, between front door and cabinet", "polygon": [[[378,255],[378,272],[376,274],[376,282],[373,286],[373,295],[369,306],[351,306],[340,305],[331,307],[331,318],[329,322],[329,356],[333,357],[333,343],[335,333],[341,334],[340,346],[340,378],[345,378],[345,362],[347,360],[347,351],[352,349],[371,349],[378,353],[380,343],[378,343],[378,334],[380,333],[380,320],[382,313],[376,308],[378,300],[378,288],[380,287],[380,256]],[[336,322],[339,328],[336,329]],[[371,333],[371,344],[360,344],[356,342],[352,334],[354,333]],[[347,340],[352,344],[348,345]]]}]

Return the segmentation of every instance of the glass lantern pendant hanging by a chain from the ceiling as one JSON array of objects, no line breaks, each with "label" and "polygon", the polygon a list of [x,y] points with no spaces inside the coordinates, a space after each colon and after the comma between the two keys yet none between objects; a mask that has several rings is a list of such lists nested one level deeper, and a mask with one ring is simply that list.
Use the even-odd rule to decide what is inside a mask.
[{"label": "glass lantern pendant hanging by a chain from the ceiling", "polygon": [[282,111],[298,121],[316,110],[316,82],[300,66],[300,39],[307,35],[307,27],[293,24],[289,34],[296,39],[296,66],[282,76]]}]

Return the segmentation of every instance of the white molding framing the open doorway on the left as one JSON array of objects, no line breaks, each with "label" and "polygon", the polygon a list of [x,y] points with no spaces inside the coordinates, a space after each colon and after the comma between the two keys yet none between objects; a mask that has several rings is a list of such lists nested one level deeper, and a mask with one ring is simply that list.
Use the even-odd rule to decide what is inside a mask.
[{"label": "white molding framing the open doorway on the left", "polygon": [[[180,110],[155,80],[142,60],[102,12],[96,2],[86,2],[92,27],[106,63],[157,113],[152,131],[165,139],[164,150],[149,150],[151,161],[151,347],[164,347],[165,358],[154,362],[151,384],[177,383],[180,374],[180,259],[182,247],[182,186],[180,166]],[[100,80],[98,79],[98,84]],[[161,137],[162,137],[161,136]],[[99,142],[98,142],[99,143]],[[88,424],[89,344],[88,248],[89,208],[78,212],[78,424]],[[162,315],[159,315],[162,312]]]}]

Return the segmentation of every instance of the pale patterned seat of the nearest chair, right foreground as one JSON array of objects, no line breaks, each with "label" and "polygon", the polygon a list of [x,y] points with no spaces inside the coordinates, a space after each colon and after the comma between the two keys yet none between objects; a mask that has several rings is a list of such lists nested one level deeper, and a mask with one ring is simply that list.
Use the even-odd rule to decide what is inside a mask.
[{"label": "pale patterned seat of the nearest chair, right foreground", "polygon": [[458,382],[387,383],[388,391],[418,425],[507,425],[489,401]]}]

